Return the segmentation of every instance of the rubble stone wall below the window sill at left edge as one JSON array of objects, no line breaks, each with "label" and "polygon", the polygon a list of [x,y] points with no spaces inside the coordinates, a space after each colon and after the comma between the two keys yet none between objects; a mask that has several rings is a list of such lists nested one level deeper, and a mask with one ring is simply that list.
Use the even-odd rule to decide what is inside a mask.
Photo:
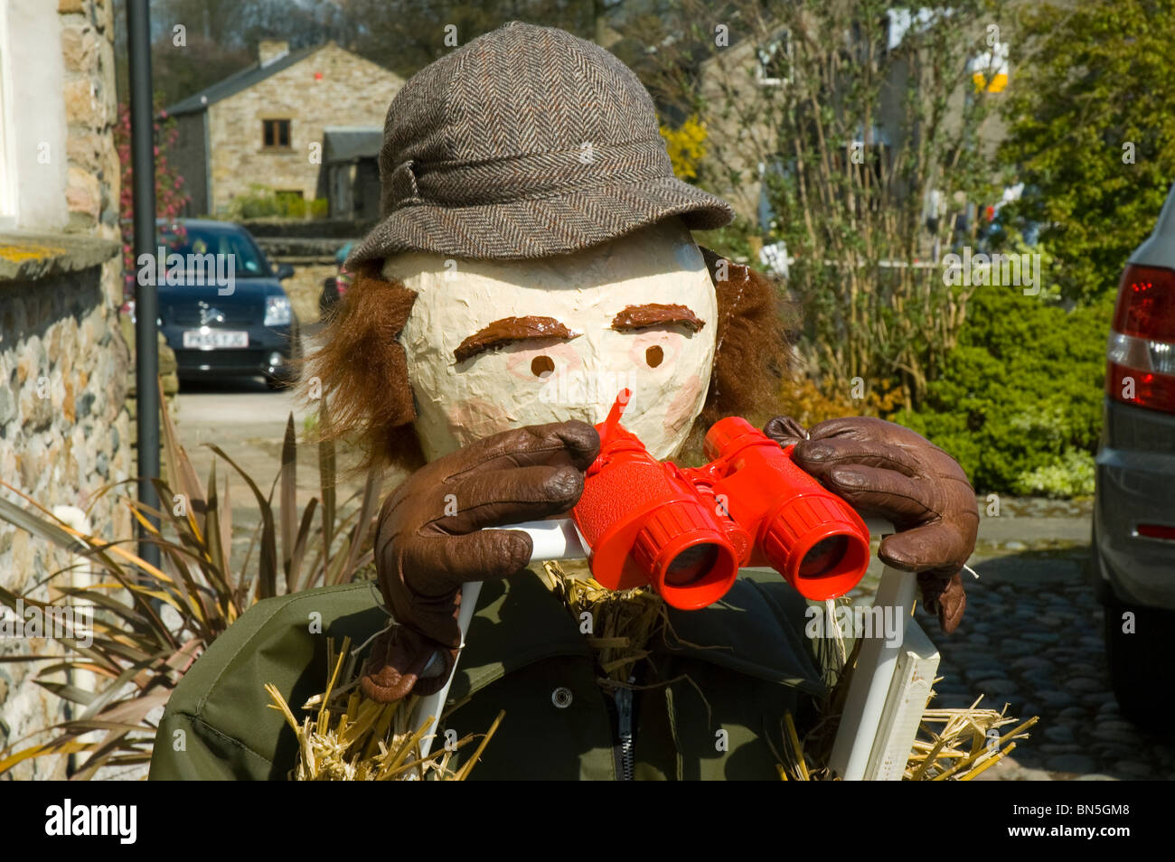
[{"label": "rubble stone wall below the window sill at left edge", "polygon": [[[128,351],[108,289],[120,270],[114,255],[80,271],[0,281],[0,477],[49,510],[86,510],[96,499],[90,524],[108,539],[130,534],[126,507],[115,506],[113,496],[95,498],[102,486],[133,474]],[[0,582],[7,590],[24,593],[69,564],[47,541],[0,521]],[[53,598],[47,585],[31,594]],[[53,649],[46,641],[0,640],[0,654]],[[62,718],[56,698],[28,679],[35,668],[0,665],[0,749]],[[63,763],[54,760],[33,761],[16,777],[60,774]]]}]

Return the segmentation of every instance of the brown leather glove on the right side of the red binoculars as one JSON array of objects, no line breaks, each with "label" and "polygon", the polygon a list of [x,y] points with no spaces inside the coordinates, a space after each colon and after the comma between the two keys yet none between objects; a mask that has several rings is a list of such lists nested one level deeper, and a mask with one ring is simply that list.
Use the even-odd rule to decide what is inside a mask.
[{"label": "brown leather glove on the right side of the red binoculars", "polygon": [[979,532],[975,492],[955,459],[921,435],[868,416],[830,419],[807,432],[778,416],[763,432],[795,444],[792,460],[859,512],[893,521],[898,532],[881,541],[878,557],[918,572],[926,608],[953,632],[967,606],[960,572]]}]

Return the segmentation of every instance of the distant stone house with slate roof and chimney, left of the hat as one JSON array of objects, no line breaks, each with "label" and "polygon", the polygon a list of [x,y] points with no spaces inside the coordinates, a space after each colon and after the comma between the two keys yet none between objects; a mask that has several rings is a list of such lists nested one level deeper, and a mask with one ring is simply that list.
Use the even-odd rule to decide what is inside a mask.
[{"label": "distant stone house with slate roof and chimney, left of the hat", "polygon": [[[192,196],[186,215],[223,215],[253,184],[311,201],[349,183],[341,200],[354,209],[355,182],[367,169],[350,147],[354,135],[333,134],[331,141],[327,130],[361,137],[382,132],[388,105],[403,83],[334,42],[290,52],[286,42],[262,41],[254,66],[166,109],[180,133],[172,157]],[[335,155],[344,143],[343,155]],[[378,177],[375,188],[378,208]],[[361,203],[368,196],[361,190]]]}]

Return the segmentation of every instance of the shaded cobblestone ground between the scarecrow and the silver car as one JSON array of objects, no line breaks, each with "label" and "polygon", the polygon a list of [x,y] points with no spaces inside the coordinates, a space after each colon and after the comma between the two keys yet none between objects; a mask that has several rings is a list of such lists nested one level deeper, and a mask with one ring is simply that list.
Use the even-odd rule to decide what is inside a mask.
[{"label": "shaded cobblestone ground between the scarecrow and the silver car", "polygon": [[945,637],[934,619],[918,613],[942,655],[933,702],[966,707],[982,694],[985,706],[1007,702],[1012,715],[1040,716],[1013,762],[985,779],[1175,777],[1169,736],[1140,730],[1119,714],[1102,608],[1085,570],[1088,506],[1018,500],[1005,512],[981,523],[971,564],[980,578],[966,578],[967,612],[958,631]]}]

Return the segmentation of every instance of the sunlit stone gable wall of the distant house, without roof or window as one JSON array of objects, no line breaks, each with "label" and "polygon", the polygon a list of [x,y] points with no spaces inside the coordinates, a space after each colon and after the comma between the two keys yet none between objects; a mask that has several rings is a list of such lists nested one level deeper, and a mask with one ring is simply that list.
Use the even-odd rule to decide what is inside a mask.
[{"label": "sunlit stone gable wall of the distant house, without roof or window", "polygon": [[[210,209],[223,211],[234,195],[261,183],[300,190],[313,200],[327,126],[383,126],[403,80],[331,43],[263,81],[208,108],[212,147]],[[289,149],[266,149],[262,120],[290,120]]]}]

